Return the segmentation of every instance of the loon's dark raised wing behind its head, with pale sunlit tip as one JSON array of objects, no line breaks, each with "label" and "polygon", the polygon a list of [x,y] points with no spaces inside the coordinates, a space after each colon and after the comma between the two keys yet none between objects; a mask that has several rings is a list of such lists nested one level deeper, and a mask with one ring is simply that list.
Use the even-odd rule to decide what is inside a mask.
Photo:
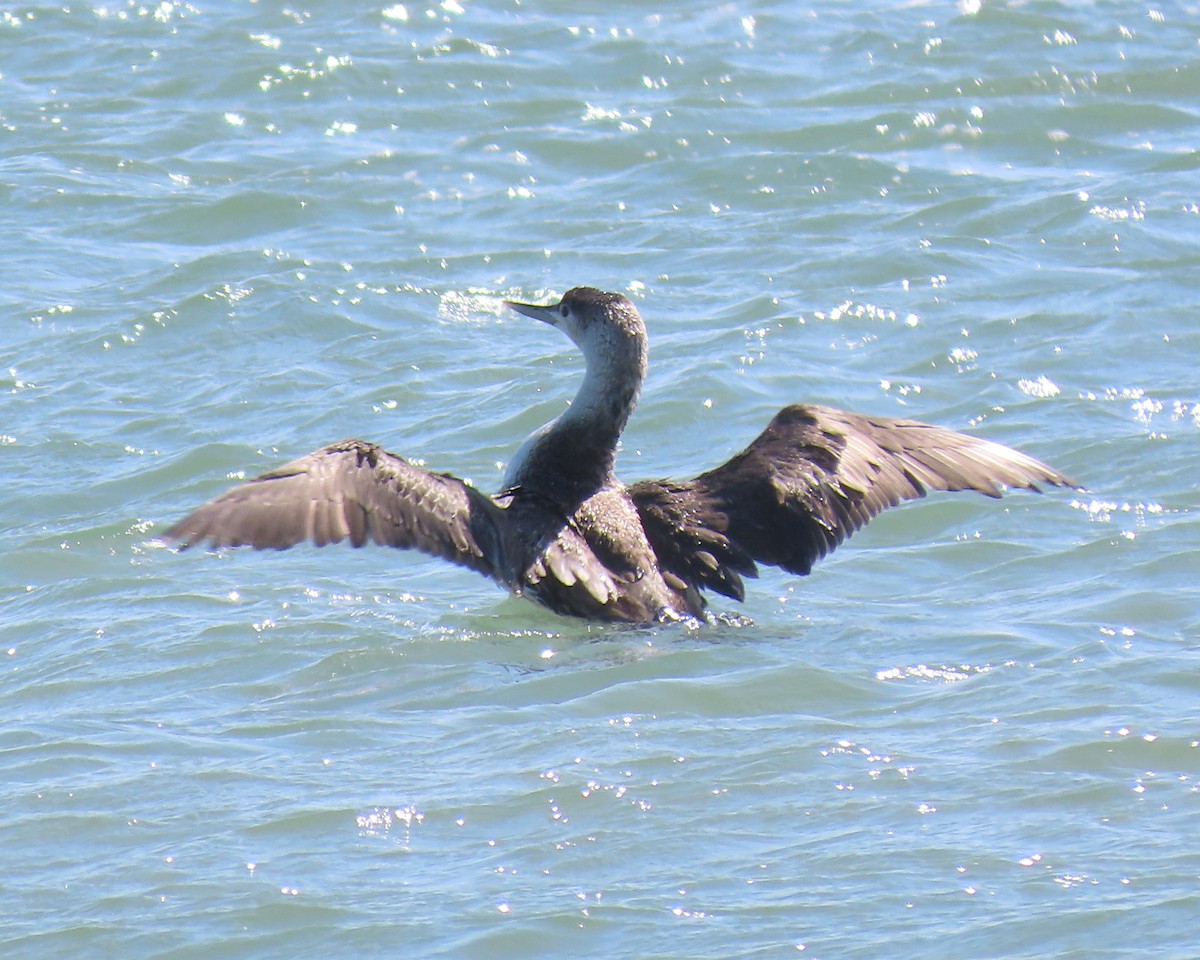
[{"label": "loon's dark raised wing behind its head, with pale sunlit tip", "polygon": [[944,427],[785,407],[745,450],[684,482],[629,488],[664,569],[743,599],[756,562],[806,575],[865,524],[926,490],[1076,486],[1045,463]]}]

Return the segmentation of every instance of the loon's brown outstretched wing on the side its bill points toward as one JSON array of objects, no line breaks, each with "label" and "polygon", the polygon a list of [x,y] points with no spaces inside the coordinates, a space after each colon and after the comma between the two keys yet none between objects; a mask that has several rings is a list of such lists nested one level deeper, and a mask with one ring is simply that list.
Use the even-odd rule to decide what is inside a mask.
[{"label": "loon's brown outstretched wing on the side its bill points toward", "polygon": [[365,440],[342,440],[234,487],[170,527],[181,550],[286,550],[373,540],[414,547],[499,580],[503,510],[448,474],[414,467]]}]

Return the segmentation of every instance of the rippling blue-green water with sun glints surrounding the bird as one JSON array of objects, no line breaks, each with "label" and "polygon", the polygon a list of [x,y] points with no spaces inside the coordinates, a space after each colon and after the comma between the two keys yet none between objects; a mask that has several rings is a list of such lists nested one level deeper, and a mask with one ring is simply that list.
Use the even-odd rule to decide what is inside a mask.
[{"label": "rippling blue-green water with sun glints surrounding the bird", "polygon": [[[1196,955],[1200,11],[877,7],[5,12],[5,956]],[[492,487],[577,283],[630,479],[810,400],[1088,492],[698,631],[152,545],[344,436]]]}]

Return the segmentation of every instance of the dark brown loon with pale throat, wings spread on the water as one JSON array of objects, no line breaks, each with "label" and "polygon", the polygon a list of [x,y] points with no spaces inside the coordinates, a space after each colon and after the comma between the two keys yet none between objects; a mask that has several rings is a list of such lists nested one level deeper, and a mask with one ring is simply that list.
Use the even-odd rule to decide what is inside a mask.
[{"label": "dark brown loon with pale throat, wings spread on the water", "polygon": [[781,409],[715,469],[626,486],[617,442],[648,356],[637,308],[592,287],[548,306],[504,302],[566,334],[586,373],[570,407],[514,456],[498,493],[348,439],[234,487],[163,539],[180,550],[371,540],[461,564],[560,614],[712,620],[706,590],[742,601],[760,564],[808,575],[880,511],[926,488],[998,497],[1002,486],[1078,486],[991,440],[808,403]]}]

